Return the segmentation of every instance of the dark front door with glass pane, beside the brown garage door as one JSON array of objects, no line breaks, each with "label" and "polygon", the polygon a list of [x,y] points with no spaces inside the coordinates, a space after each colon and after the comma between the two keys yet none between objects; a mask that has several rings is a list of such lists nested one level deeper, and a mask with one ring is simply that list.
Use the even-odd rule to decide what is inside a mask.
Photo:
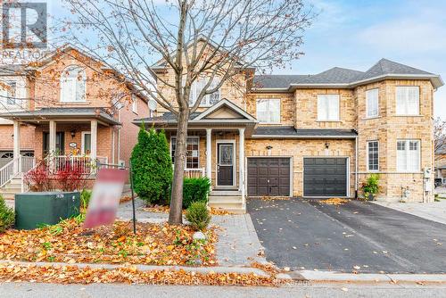
[{"label": "dark front door with glass pane, beside the brown garage door", "polygon": [[219,143],[217,147],[217,184],[234,185],[234,144]]}]

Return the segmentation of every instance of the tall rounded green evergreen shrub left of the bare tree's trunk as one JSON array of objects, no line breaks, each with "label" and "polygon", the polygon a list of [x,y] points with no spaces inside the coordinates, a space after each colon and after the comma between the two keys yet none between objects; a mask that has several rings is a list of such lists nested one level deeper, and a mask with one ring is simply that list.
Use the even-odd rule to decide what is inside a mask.
[{"label": "tall rounded green evergreen shrub left of the bare tree's trunk", "polygon": [[166,200],[172,183],[172,160],[164,131],[141,126],[132,156],[133,187],[147,203]]}]

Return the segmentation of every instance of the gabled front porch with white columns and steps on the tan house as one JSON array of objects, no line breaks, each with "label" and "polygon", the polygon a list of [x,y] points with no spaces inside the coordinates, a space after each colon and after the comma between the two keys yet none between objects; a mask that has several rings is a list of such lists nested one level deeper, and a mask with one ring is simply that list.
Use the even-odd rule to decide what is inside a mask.
[{"label": "gabled front porch with white columns and steps on the tan house", "polygon": [[[177,120],[171,113],[136,120],[146,128],[163,129],[175,161]],[[225,99],[189,120],[186,143],[186,178],[211,180],[211,207],[232,212],[246,211],[244,139],[252,135],[257,121]]]}]

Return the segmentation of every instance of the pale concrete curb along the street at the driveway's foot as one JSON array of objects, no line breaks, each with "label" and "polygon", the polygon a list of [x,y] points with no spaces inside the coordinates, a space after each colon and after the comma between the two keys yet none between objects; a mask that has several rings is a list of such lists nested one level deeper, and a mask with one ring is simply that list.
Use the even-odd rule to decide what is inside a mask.
[{"label": "pale concrete curb along the street at the driveway's foot", "polygon": [[446,274],[376,274],[343,273],[336,271],[293,271],[294,280],[310,282],[375,282],[375,283],[446,283]]}]

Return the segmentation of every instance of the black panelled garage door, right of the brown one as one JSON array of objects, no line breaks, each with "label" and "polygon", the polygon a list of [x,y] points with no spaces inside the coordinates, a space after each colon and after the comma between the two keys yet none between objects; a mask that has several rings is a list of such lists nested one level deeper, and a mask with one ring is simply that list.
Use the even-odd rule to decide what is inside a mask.
[{"label": "black panelled garage door, right of the brown one", "polygon": [[347,196],[346,158],[304,158],[304,196]]}]

